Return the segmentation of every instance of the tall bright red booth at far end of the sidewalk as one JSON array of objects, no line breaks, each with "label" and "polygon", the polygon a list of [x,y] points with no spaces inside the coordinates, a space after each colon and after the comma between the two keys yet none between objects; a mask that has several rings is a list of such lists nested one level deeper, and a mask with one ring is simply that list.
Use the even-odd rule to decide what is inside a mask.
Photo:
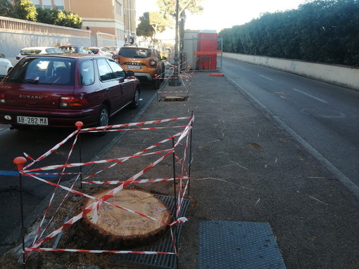
[{"label": "tall bright red booth at far end of the sidewalk", "polygon": [[215,30],[202,30],[198,34],[198,62],[199,70],[215,70],[217,68],[218,34]]}]

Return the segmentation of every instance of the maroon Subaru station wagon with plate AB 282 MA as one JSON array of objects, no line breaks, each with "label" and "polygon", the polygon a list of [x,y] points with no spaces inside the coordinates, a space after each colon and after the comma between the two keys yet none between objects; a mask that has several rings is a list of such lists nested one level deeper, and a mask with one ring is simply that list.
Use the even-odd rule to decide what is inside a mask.
[{"label": "maroon Subaru station wagon with plate AB 282 MA", "polygon": [[0,82],[0,123],[23,126],[106,126],[140,85],[113,59],[84,54],[27,56]]}]

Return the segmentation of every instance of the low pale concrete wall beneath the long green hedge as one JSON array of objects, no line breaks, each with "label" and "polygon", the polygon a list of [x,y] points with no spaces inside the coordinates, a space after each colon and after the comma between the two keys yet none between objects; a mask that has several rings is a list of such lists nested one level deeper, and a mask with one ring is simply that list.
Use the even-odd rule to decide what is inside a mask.
[{"label": "low pale concrete wall beneath the long green hedge", "polygon": [[359,68],[340,65],[308,63],[301,60],[284,60],[256,55],[223,53],[223,57],[240,60],[255,65],[263,65],[284,72],[299,74],[303,77],[318,79],[331,84],[359,90]]}]

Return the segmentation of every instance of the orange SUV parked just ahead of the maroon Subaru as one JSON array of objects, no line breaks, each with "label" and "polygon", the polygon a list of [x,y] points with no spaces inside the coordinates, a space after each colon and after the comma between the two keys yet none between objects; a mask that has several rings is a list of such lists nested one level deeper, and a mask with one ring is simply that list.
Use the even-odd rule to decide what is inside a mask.
[{"label": "orange SUV parked just ahead of the maroon Subaru", "polygon": [[122,46],[118,53],[119,63],[125,70],[133,70],[134,75],[145,81],[158,82],[155,79],[165,74],[166,58],[161,58],[156,48]]}]

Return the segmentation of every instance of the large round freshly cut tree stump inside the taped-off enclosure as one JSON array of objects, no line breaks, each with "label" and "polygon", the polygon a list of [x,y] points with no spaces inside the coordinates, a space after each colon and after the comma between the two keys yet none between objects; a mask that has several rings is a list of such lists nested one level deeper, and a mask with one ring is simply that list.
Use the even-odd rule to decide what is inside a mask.
[{"label": "large round freshly cut tree stump inside the taped-off enclosure", "polygon": [[[108,192],[110,190],[102,190],[93,196],[100,199]],[[94,211],[91,211],[84,216],[83,223],[89,231],[94,233],[95,237],[103,237],[100,241],[106,240],[106,244],[113,247],[138,247],[148,244],[163,235],[168,228],[168,225],[164,223],[170,223],[171,220],[168,206],[143,190],[120,190],[107,202],[158,220],[154,221],[105,202],[101,203],[97,222],[94,222]],[[94,203],[93,199],[85,199],[83,209],[92,203]]]}]

